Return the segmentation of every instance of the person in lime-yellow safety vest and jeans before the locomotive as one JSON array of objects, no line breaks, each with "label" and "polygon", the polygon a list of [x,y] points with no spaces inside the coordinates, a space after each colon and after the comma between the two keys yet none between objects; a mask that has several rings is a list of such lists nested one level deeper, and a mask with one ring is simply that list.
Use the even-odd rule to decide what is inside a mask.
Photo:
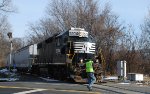
[{"label": "person in lime-yellow safety vest and jeans before the locomotive", "polygon": [[94,64],[93,63],[94,62],[92,61],[92,59],[87,59],[87,61],[86,61],[86,73],[88,76],[87,88],[89,89],[89,91],[92,91],[92,86],[96,82],[96,78],[94,76],[94,69],[93,69]]}]

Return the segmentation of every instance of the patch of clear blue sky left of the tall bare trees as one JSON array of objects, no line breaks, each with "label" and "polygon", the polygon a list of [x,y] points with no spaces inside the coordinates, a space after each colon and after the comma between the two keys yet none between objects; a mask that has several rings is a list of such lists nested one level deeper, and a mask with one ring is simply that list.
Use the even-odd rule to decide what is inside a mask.
[{"label": "patch of clear blue sky left of the tall bare trees", "polygon": [[23,38],[28,32],[29,23],[37,22],[46,14],[49,0],[12,0],[16,13],[9,15],[9,22],[15,38]]}]

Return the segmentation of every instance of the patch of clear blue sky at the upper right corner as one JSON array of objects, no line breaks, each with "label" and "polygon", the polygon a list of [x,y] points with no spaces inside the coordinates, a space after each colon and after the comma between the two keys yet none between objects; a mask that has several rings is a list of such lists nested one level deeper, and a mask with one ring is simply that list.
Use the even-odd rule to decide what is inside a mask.
[{"label": "patch of clear blue sky at the upper right corner", "polygon": [[141,34],[140,26],[150,10],[150,0],[107,0],[112,11],[120,17],[124,24],[132,24],[135,33]]}]

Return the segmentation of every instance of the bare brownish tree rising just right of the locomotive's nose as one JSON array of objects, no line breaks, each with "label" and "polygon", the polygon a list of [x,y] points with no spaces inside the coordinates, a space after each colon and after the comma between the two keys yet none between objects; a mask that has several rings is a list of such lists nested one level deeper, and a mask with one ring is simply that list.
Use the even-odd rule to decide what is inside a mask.
[{"label": "bare brownish tree rising just right of the locomotive's nose", "polygon": [[123,35],[124,26],[118,22],[118,16],[111,13],[109,5],[106,5],[101,15],[94,23],[92,31],[97,40],[97,47],[103,50],[106,61],[106,70],[114,74],[116,67],[115,53],[117,51],[118,41]]}]

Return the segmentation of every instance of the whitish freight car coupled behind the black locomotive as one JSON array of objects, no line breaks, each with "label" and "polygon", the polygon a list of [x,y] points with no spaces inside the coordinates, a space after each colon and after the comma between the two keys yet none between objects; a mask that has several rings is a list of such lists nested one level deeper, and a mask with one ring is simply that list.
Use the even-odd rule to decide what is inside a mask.
[{"label": "whitish freight car coupled behind the black locomotive", "polygon": [[[37,56],[37,44],[25,46],[12,53],[11,66],[19,69],[28,69],[34,63]],[[10,57],[7,58],[7,64],[10,64]]]}]

